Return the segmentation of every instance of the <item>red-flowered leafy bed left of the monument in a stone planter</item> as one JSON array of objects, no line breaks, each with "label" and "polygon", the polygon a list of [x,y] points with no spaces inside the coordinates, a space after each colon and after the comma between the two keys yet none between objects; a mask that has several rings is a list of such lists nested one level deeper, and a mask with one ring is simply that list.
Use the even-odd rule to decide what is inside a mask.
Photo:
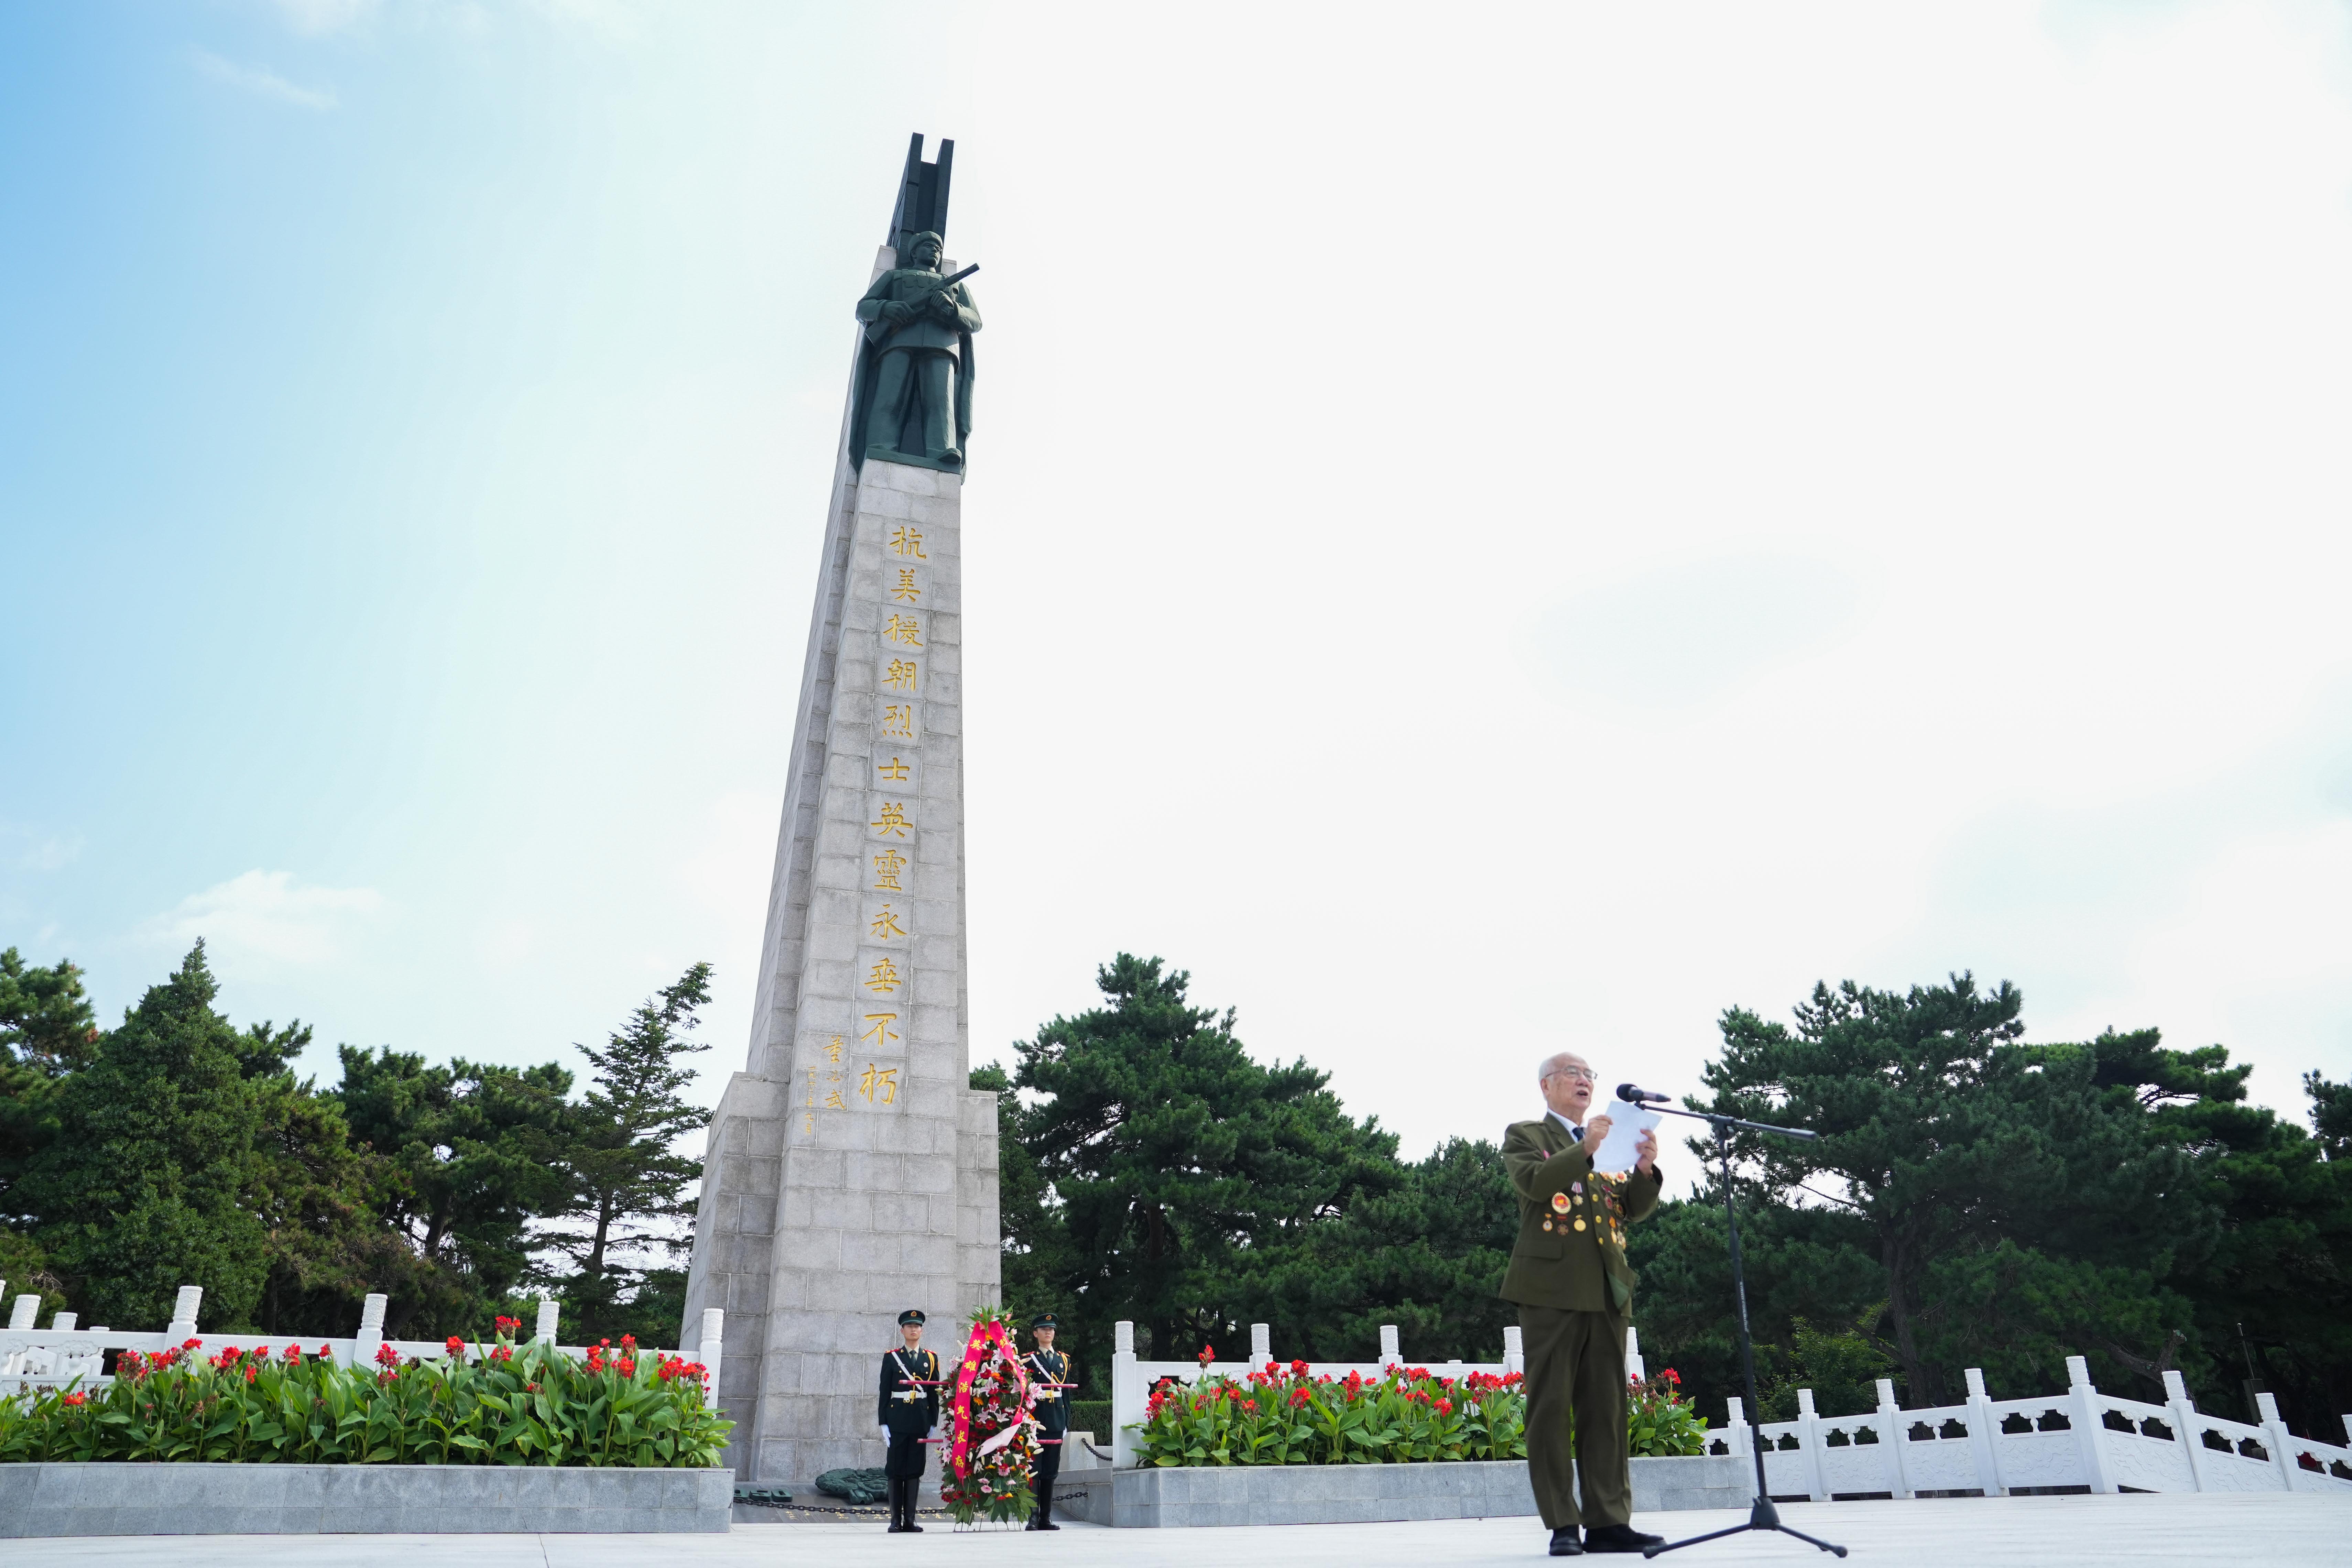
[{"label": "red-flowered leafy bed left of the monument in a stone planter", "polygon": [[734,1422],[703,1403],[699,1363],[637,1354],[626,1335],[586,1356],[515,1347],[515,1328],[499,1319],[487,1347],[452,1338],[447,1361],[405,1361],[386,1347],[372,1368],[301,1345],[122,1352],[111,1385],[0,1396],[0,1462],[720,1462]]}]

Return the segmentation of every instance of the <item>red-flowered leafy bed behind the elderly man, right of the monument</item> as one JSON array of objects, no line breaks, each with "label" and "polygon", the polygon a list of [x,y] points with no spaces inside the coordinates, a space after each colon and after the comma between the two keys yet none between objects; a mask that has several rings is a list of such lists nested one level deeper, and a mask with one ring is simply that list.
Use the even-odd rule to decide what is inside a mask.
[{"label": "red-flowered leafy bed behind the elderly man, right of the monument", "polygon": [[[1202,1366],[1214,1352],[1202,1352]],[[1164,1382],[1136,1425],[1138,1465],[1416,1465],[1524,1460],[1519,1373],[1437,1378],[1425,1366],[1383,1378],[1315,1378],[1305,1361],[1268,1361],[1244,1380]],[[1696,1455],[1705,1422],[1672,1371],[1635,1380],[1625,1425],[1637,1455]]]}]

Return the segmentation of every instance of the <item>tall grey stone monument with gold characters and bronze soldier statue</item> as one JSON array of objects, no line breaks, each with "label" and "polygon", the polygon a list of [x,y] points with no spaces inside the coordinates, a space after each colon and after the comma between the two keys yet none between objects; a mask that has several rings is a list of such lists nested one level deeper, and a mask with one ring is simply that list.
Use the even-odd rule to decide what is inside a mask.
[{"label": "tall grey stone monument with gold characters and bronze soldier statue", "polygon": [[[833,473],[750,1060],[703,1154],[687,1324],[727,1309],[727,1460],[882,1465],[875,1368],[920,1307],[953,1361],[997,1300],[997,1110],[964,1013],[962,487],[971,334],[955,143],[906,179]],[[936,1483],[936,1467],[931,1481]]]}]

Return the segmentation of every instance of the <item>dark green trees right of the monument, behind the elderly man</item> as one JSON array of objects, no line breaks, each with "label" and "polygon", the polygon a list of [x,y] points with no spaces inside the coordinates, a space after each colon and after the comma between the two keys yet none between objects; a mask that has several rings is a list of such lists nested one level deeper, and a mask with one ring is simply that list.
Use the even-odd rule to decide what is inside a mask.
[{"label": "dark green trees right of the monument, behind the elderly man", "polygon": [[[974,1072],[1011,1091],[1007,1298],[1061,1316],[1089,1392],[1108,1394],[1117,1319],[1169,1361],[1247,1349],[1249,1324],[1284,1356],[1371,1359],[1381,1324],[1416,1361],[1501,1356],[1517,1208],[1494,1140],[1404,1161],[1329,1074],[1256,1063],[1185,973],[1120,954],[1098,985],[1101,1009]],[[2333,1436],[2352,1410],[2352,1086],[2307,1074],[2305,1128],[2249,1105],[2249,1072],[2157,1030],[2030,1044],[2018,990],[1971,976],[1818,985],[1792,1023],[1729,1009],[1689,1105],[1820,1133],[1733,1145],[1766,1413],[1795,1415],[1797,1387],[1867,1410],[1877,1378],[1947,1403],[1969,1366],[2056,1392],[2084,1354],[2117,1394],[2161,1399],[2178,1368],[2204,1408],[2246,1415],[2265,1387]],[[1738,1363],[1712,1140],[1668,1161],[1700,1180],[1628,1232],[1635,1321],[1719,1422]]]}]

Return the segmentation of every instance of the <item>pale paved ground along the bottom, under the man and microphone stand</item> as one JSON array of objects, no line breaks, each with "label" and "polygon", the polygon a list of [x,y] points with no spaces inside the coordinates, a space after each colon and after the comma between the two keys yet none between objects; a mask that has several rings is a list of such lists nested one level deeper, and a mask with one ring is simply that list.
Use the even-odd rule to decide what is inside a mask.
[{"label": "pale paved ground along the bottom, under the man and microphone stand", "polygon": [[[1790,1502],[1799,1530],[1851,1547],[1851,1563],[1985,1568],[2013,1563],[2263,1563],[2340,1568],[2352,1561],[2352,1497],[2122,1495],[1936,1497],[1915,1502]],[[1653,1514],[1651,1530],[1696,1535],[1745,1514]],[[1534,1519],[1435,1523],[1268,1526],[1235,1530],[1021,1530],[884,1535],[875,1526],[736,1526],[729,1535],[127,1535],[12,1540],[9,1568],[52,1563],[169,1563],[172,1568],[642,1568],[647,1561],[713,1568],[1200,1568],[1202,1561],[1282,1568],[1456,1568],[1536,1563]],[[1616,1559],[1637,1563],[1642,1559]],[[1677,1568],[1785,1568],[1830,1563],[1799,1540],[1738,1535],[1668,1559]]]}]

